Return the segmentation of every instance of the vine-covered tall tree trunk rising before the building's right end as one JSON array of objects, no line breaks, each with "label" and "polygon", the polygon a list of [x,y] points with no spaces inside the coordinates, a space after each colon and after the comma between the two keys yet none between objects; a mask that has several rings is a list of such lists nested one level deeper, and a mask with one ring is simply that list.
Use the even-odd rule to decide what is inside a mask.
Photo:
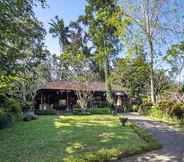
[{"label": "vine-covered tall tree trunk rising before the building's right end", "polygon": [[112,87],[110,81],[110,67],[109,67],[109,58],[105,57],[105,86],[106,86],[106,99],[108,104],[113,107],[113,97],[112,97]]}]

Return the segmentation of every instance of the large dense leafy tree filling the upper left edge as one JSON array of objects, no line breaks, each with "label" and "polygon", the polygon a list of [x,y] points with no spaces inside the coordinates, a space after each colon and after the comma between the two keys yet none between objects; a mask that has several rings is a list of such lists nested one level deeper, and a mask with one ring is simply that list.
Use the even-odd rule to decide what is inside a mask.
[{"label": "large dense leafy tree filling the upper left edge", "polygon": [[44,0],[0,3],[0,88],[3,92],[23,79],[23,74],[39,64],[42,57],[45,30],[33,12],[37,3],[45,5]]}]

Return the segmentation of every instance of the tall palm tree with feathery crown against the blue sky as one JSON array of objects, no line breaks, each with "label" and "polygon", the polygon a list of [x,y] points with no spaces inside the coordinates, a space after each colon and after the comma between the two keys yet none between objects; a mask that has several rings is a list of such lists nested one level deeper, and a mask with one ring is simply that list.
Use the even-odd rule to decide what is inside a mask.
[{"label": "tall palm tree with feathery crown against the blue sky", "polygon": [[65,47],[69,44],[70,31],[68,27],[65,27],[63,19],[59,19],[58,16],[55,17],[55,20],[51,20],[49,33],[53,37],[59,38],[59,45],[61,52],[65,50]]}]

